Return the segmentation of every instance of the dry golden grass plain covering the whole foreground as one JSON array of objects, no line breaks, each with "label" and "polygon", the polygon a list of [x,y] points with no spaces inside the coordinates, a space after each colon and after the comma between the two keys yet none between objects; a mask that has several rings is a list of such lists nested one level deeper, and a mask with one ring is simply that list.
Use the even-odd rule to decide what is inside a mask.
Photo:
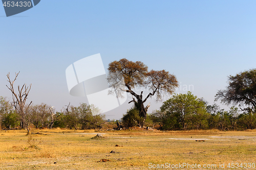
[{"label": "dry golden grass plain covering the whole foreground", "polygon": [[[231,163],[256,163],[256,130],[31,132],[0,131],[0,169],[163,169],[153,165],[165,163],[217,165],[191,169],[221,169],[220,163],[225,163],[225,169],[256,169],[245,164],[227,167],[228,163],[230,167]],[[98,133],[103,138],[91,139]]]}]

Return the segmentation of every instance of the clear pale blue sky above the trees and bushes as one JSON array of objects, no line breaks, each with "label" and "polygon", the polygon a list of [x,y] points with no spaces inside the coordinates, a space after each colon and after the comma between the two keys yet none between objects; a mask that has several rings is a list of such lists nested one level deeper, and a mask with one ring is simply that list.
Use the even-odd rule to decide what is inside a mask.
[{"label": "clear pale blue sky above the trees and bushes", "polygon": [[[111,61],[142,61],[177,76],[209,104],[227,76],[255,68],[256,1],[41,0],[6,17],[0,7],[0,96],[11,99],[6,74],[32,84],[28,101],[59,111],[86,100],[68,92],[65,70],[97,53]],[[186,90],[177,92],[186,93]],[[150,111],[161,103],[152,100]],[[120,118],[126,104],[107,118]],[[225,106],[222,106],[225,108]]]}]

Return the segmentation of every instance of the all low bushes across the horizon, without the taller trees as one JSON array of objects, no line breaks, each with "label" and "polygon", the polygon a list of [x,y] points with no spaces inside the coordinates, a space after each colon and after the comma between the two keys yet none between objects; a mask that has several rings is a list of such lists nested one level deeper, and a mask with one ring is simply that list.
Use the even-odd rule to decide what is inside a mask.
[{"label": "all low bushes across the horizon, without the taller trees", "polygon": [[[256,129],[256,114],[230,107],[225,111],[219,105],[207,105],[204,99],[191,94],[174,94],[163,102],[159,110],[148,113],[145,126],[159,130],[245,130]],[[37,129],[101,129],[104,124],[115,124],[114,120],[105,120],[103,114],[93,114],[93,106],[80,104],[78,107],[66,106],[54,113],[53,125],[51,106],[47,104],[31,105],[26,115],[27,122]],[[136,106],[127,110],[121,118],[121,125],[126,128],[139,127],[141,117]],[[0,126],[2,128],[20,128],[20,118],[11,103],[0,97]],[[107,123],[108,122],[108,123]],[[114,126],[116,127],[116,126]],[[117,128],[117,127],[116,127]]]}]

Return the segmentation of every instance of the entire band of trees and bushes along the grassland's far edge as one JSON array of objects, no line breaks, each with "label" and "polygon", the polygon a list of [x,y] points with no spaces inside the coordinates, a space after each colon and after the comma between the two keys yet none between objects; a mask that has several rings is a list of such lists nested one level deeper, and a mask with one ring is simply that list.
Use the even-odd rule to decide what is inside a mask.
[{"label": "entire band of trees and bushes along the grassland's far edge", "polygon": [[[133,107],[127,110],[122,117],[122,126],[148,126],[162,130],[190,130],[190,129],[255,129],[256,128],[256,69],[240,72],[236,76],[229,76],[229,85],[224,90],[219,90],[215,100],[232,105],[229,111],[220,109],[220,106],[208,105],[203,98],[191,94],[173,94],[179,86],[175,75],[165,70],[147,70],[141,61],[121,59],[113,61],[108,67],[108,83],[112,90],[122,96],[130,93]],[[18,72],[19,74],[19,72]],[[70,129],[95,129],[102,128],[104,115],[97,114],[93,105],[80,104],[78,107],[66,106],[60,112],[54,112],[46,104],[26,104],[31,89],[24,84],[14,90],[14,82],[7,74],[12,92],[12,102],[0,98],[0,124],[6,128],[17,127],[27,129],[34,125],[36,128],[70,128]],[[124,81],[124,86],[120,85]],[[135,87],[147,87],[150,93],[143,95],[143,91],[136,93]],[[173,94],[170,99],[163,102],[159,110],[147,113],[149,105],[144,106],[148,98],[156,95],[156,100],[162,99],[164,94]],[[145,97],[144,97],[145,96]],[[237,107],[235,107],[237,106]],[[238,108],[239,107],[239,108]],[[242,107],[242,108],[241,108]],[[96,113],[96,114],[95,114]],[[113,122],[112,122],[113,124]],[[1,128],[1,126],[0,126]]]}]

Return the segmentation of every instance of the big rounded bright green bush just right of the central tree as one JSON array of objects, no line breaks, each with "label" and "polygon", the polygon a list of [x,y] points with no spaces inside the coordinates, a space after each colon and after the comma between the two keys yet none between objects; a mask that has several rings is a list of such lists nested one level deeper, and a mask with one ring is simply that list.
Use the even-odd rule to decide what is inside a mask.
[{"label": "big rounded bright green bush just right of the central tree", "polygon": [[206,129],[207,118],[205,103],[191,94],[174,94],[161,106],[163,129]]}]

